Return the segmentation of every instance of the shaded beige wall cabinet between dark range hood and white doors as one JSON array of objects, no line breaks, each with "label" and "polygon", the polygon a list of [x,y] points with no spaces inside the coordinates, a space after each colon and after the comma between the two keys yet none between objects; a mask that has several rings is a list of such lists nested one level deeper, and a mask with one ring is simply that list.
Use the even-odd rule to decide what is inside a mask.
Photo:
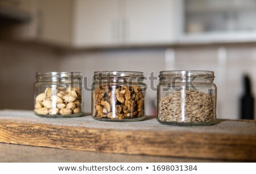
[{"label": "shaded beige wall cabinet between dark range hood and white doors", "polygon": [[19,40],[70,47],[73,39],[74,2],[73,0],[29,0],[28,11],[31,20],[6,27],[8,34]]}]

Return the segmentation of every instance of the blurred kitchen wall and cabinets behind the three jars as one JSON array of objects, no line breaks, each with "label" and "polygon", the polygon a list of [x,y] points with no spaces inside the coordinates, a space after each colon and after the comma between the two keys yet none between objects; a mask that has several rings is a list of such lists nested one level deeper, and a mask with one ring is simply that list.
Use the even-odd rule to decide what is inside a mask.
[{"label": "blurred kitchen wall and cabinets behind the three jars", "polygon": [[[94,71],[214,71],[226,119],[240,118],[243,74],[256,90],[255,0],[0,0],[0,38],[0,109],[33,109],[36,71],[88,86]],[[155,100],[148,89],[147,115]]]}]

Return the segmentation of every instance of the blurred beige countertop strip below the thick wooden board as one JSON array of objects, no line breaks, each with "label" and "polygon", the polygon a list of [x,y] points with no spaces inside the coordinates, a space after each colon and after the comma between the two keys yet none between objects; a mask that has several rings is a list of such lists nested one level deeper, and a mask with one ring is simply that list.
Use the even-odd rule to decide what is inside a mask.
[{"label": "blurred beige countertop strip below the thick wooden board", "polygon": [[209,159],[173,158],[170,156],[126,155],[103,152],[74,151],[58,148],[0,143],[0,163],[212,163]]}]

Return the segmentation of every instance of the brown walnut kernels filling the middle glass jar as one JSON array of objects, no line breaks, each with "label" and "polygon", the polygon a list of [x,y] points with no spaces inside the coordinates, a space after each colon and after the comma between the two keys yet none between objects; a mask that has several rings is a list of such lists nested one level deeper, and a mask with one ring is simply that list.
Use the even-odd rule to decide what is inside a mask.
[{"label": "brown walnut kernels filling the middle glass jar", "polygon": [[144,94],[139,85],[100,86],[93,93],[93,100],[96,118],[129,119],[144,115]]}]

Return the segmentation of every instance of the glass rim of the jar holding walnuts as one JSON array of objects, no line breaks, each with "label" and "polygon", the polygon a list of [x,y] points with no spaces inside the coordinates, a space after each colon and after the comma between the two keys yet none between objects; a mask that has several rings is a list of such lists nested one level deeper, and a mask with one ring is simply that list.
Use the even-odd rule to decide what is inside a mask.
[{"label": "glass rim of the jar holding walnuts", "polygon": [[139,71],[95,71],[94,72],[94,77],[129,77],[129,76],[144,76],[144,73]]}]

